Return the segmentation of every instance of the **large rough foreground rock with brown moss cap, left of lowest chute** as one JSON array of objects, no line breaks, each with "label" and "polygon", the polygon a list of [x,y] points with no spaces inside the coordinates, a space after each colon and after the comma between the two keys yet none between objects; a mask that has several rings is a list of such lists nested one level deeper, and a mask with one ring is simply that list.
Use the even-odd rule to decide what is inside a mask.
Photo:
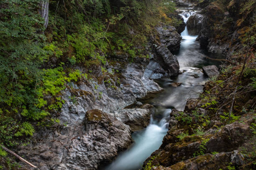
[{"label": "large rough foreground rock with brown moss cap, left of lowest chute", "polygon": [[41,145],[27,146],[20,154],[31,156],[45,170],[97,170],[132,142],[130,127],[100,110],[87,111],[75,128],[36,135]]}]

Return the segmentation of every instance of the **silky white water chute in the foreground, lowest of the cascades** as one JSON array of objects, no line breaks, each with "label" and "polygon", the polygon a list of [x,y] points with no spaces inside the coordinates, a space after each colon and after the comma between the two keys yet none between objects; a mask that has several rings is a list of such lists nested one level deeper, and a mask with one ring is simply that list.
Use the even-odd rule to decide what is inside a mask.
[{"label": "silky white water chute in the foreground, lowest of the cascades", "polygon": [[143,162],[160,147],[164,135],[168,131],[168,118],[172,110],[156,108],[156,113],[159,112],[163,118],[159,121],[151,116],[150,124],[146,129],[133,133],[133,140],[135,141],[133,146],[121,153],[105,170],[141,169]]}]

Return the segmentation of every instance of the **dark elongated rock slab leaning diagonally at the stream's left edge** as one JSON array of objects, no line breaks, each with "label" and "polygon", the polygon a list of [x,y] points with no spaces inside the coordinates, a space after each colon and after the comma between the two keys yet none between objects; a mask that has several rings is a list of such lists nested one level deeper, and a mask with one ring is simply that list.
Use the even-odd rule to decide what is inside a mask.
[{"label": "dark elongated rock slab leaning diagonally at the stream's left edge", "polygon": [[156,47],[156,60],[159,65],[168,71],[169,76],[177,76],[179,74],[179,62],[175,55],[164,45]]}]

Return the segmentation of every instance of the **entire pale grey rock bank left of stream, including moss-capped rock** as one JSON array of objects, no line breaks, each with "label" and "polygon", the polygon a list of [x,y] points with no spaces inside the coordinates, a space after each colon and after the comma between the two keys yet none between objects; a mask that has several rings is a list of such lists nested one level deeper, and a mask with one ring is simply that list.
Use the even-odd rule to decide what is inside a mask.
[{"label": "entire pale grey rock bank left of stream, including moss-capped rock", "polygon": [[38,130],[33,142],[16,152],[25,155],[41,170],[96,170],[99,165],[113,160],[132,142],[129,125],[133,127],[132,123],[136,122],[134,127],[146,126],[150,110],[149,107],[133,110],[133,117],[126,117],[129,125],[111,113],[125,114],[121,109],[136,102],[136,98],[161,90],[156,82],[144,76],[148,61],[138,60],[122,66],[122,63],[114,66],[108,63],[108,68],[119,70],[122,75],[119,85],[111,73],[104,77],[111,81],[108,84],[102,78],[100,67],[90,68],[97,79],[81,79],[62,92],[65,103],[57,117],[60,124],[54,129]]}]

